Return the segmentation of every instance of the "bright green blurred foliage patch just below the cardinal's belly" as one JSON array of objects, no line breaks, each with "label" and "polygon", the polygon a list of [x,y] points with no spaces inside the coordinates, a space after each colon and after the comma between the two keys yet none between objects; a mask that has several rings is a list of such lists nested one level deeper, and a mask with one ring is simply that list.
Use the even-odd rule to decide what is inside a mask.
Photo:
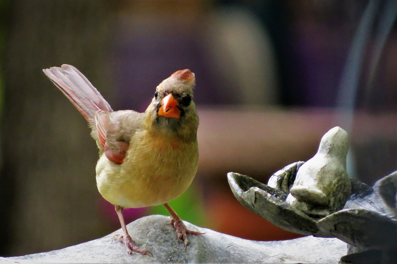
[{"label": "bright green blurred foliage patch just below the cardinal's belly", "polygon": [[[168,204],[182,220],[197,226],[205,225],[206,217],[203,199],[197,184],[191,184],[181,196],[173,199]],[[170,215],[162,205],[151,207],[149,212],[150,214]]]}]

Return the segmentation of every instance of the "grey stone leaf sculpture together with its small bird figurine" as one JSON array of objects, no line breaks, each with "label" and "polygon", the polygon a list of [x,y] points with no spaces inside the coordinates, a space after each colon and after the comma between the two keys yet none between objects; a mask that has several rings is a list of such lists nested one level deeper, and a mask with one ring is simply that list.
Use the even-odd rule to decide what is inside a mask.
[{"label": "grey stone leaf sculpture together with its small bird figurine", "polygon": [[[347,134],[341,128],[331,129],[322,138],[318,153],[306,162],[317,160],[315,164],[299,161],[285,166],[270,177],[267,185],[229,172],[231,190],[242,205],[276,226],[345,241],[349,244],[348,253],[353,254],[343,257],[343,261],[397,262],[397,171],[373,187],[347,178],[345,140]],[[323,145],[324,142],[327,143]],[[330,160],[321,153],[324,149],[339,157]],[[316,164],[320,166],[316,168]],[[322,175],[324,170],[327,175]],[[298,186],[297,194],[292,190]],[[322,197],[321,202],[315,201],[318,197]]]}]

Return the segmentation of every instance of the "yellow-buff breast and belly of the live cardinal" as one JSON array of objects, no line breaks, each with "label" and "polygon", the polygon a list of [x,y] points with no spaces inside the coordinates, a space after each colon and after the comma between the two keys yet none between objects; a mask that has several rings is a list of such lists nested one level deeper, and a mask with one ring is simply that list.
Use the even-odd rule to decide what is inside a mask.
[{"label": "yellow-buff breast and belly of the live cardinal", "polygon": [[197,140],[183,142],[164,135],[137,132],[122,164],[102,155],[96,165],[100,194],[126,208],[166,203],[191,184],[198,166]]}]

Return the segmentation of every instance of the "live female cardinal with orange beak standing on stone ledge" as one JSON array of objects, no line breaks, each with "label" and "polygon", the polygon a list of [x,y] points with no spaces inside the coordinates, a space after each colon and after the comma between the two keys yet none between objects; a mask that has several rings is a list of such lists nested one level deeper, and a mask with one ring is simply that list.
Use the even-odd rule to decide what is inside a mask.
[{"label": "live female cardinal with orange beak standing on stone ledge", "polygon": [[193,103],[195,75],[185,69],[163,80],[145,113],[113,111],[89,80],[75,67],[43,69],[48,78],[87,119],[99,148],[96,185],[115,205],[127,253],[152,254],[139,248],[125,226],[123,209],[163,204],[171,214],[185,251],[188,230],[167,204],[191,184],[198,166],[198,116]]}]

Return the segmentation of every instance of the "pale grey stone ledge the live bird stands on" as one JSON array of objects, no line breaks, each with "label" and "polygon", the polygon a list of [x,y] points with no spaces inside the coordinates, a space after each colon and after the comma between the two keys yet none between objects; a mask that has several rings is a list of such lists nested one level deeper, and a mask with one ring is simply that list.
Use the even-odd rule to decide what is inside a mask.
[{"label": "pale grey stone ledge the live bird stands on", "polygon": [[[177,241],[170,218],[152,215],[127,225],[139,246],[153,253],[127,255],[124,246],[112,241],[115,231],[102,238],[55,251],[1,258],[2,263],[149,263],[149,262],[256,262],[256,263],[337,263],[347,253],[347,244],[336,238],[302,237],[286,241],[250,241],[199,228],[205,234],[189,235],[187,252]],[[249,224],[249,223],[241,223]]]}]

